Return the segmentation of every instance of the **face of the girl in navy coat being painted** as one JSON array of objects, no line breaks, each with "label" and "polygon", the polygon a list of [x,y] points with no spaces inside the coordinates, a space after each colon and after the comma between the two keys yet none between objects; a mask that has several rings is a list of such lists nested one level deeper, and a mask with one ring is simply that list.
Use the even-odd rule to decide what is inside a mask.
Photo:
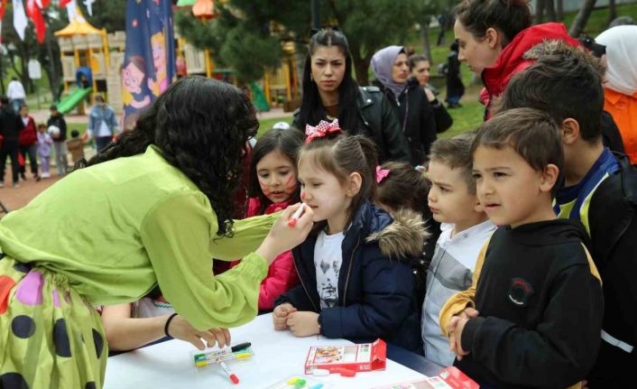
[{"label": "face of the girl in navy coat being painted", "polygon": [[314,211],[313,220],[328,220],[330,233],[342,231],[355,194],[334,174],[319,168],[311,156],[299,162],[299,182],[300,199]]}]

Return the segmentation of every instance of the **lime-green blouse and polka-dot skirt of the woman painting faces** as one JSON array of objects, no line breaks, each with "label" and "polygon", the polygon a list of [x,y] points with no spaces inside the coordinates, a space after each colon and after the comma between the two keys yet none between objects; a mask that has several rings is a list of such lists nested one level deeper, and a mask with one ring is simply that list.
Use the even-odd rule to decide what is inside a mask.
[{"label": "lime-green blouse and polka-dot skirt of the woman painting faces", "polygon": [[[24,347],[20,347],[19,342],[12,343],[10,336],[5,338],[4,334],[10,333],[15,325],[15,316],[33,318],[37,332],[42,328],[39,320],[51,320],[48,317],[51,307],[47,306],[57,309],[60,301],[62,308],[69,305],[64,308],[69,312],[86,310],[83,305],[136,301],[159,284],[163,296],[196,329],[235,327],[252,320],[257,312],[259,285],[268,268],[263,257],[253,252],[277,217],[278,214],[274,214],[235,221],[232,238],[217,236],[217,217],[208,198],[180,170],[166,162],[154,146],[140,155],[69,174],[26,207],[0,220],[0,251],[6,255],[0,260],[0,334],[3,334],[0,336],[0,382],[2,375],[12,372],[11,366],[18,374],[26,368],[15,361],[32,347],[27,341],[32,343],[38,338],[17,337],[27,342]],[[243,261],[215,276],[211,271],[213,257],[243,258]],[[29,264],[31,269],[18,269],[24,273],[14,271],[16,262]],[[28,297],[23,298],[27,303],[21,302],[19,297],[33,292],[27,290],[28,282],[23,282],[22,294],[19,291],[22,280],[29,278],[42,279],[45,284],[33,290],[44,293],[39,300],[37,296],[31,300],[36,302],[34,304],[28,303]],[[58,289],[67,291],[61,294],[70,298],[60,299]],[[48,295],[42,292],[48,290],[51,290]],[[72,297],[76,294],[78,299]],[[42,311],[34,311],[42,309],[44,318]],[[62,315],[60,312],[51,314],[55,320]],[[75,316],[68,315],[65,322],[69,334],[74,331],[90,334],[91,329],[81,329],[82,321],[87,321],[103,337],[101,323],[74,320]],[[56,329],[51,325],[46,331]],[[24,335],[24,331],[20,335]],[[45,341],[51,340],[47,340],[51,334],[43,337]],[[71,348],[77,347],[73,345],[73,337],[69,335],[69,338]],[[106,351],[101,348],[98,351],[97,359],[104,358]],[[95,355],[95,350],[91,353]],[[53,352],[49,354],[60,358]],[[42,352],[40,358],[45,358]],[[97,365],[86,366],[94,362]],[[84,387],[82,383],[90,378],[99,387],[101,377],[85,376],[81,370],[97,371],[103,376],[103,366],[100,367],[103,364],[104,361],[84,360],[75,365],[80,370],[74,373],[79,375],[78,380],[60,378],[58,381]],[[57,373],[53,374],[53,370],[69,363],[51,365],[51,374],[46,377],[56,379]],[[25,377],[29,387],[54,386],[42,381],[44,375],[37,377]]]}]

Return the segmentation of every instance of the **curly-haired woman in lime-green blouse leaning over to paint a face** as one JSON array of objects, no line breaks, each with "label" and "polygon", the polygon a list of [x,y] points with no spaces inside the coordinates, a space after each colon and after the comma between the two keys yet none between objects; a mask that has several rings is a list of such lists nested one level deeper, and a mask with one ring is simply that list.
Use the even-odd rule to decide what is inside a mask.
[{"label": "curly-haired woman in lime-green blouse leaning over to paint a face", "polygon": [[[156,287],[179,314],[166,320],[166,335],[229,343],[226,328],[256,315],[268,265],[312,225],[306,207],[287,226],[299,205],[278,221],[279,214],[231,219],[246,140],[257,127],[239,89],[180,79],[134,131],[5,216],[0,383],[101,387],[107,347],[92,307],[136,301]],[[216,276],[213,257],[243,263]]]}]

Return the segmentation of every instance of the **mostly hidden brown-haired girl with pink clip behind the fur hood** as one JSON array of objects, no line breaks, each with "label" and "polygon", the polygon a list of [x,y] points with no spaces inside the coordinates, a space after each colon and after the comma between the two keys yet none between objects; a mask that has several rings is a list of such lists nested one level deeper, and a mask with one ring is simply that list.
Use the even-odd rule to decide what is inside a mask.
[{"label": "mostly hidden brown-haired girl with pink clip behind the fur hood", "polygon": [[[422,167],[420,166],[420,168]],[[422,301],[425,298],[427,269],[436,244],[436,237],[432,237],[430,231],[432,229],[439,231],[440,229],[439,224],[431,218],[429,207],[427,207],[426,199],[431,185],[426,178],[426,172],[417,170],[405,162],[386,162],[383,163],[383,166],[377,167],[376,182],[378,182],[378,190],[374,203],[378,207],[389,212],[392,218],[401,220],[417,219],[413,216],[415,212],[420,215],[427,227],[423,252],[418,264],[413,266],[416,295],[416,306],[413,307],[413,310],[418,311],[420,317]],[[435,223],[435,226],[431,224],[432,222]],[[434,245],[430,245],[432,240]]]}]

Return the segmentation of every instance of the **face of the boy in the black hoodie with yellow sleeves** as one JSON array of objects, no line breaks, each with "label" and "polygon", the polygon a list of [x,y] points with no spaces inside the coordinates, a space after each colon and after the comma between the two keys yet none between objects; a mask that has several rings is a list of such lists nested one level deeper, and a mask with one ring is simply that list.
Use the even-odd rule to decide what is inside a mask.
[{"label": "face of the boy in the black hoodie with yellow sleeves", "polygon": [[557,173],[552,177],[551,171],[557,169],[549,165],[543,172],[535,171],[511,146],[478,146],[474,153],[478,199],[487,216],[499,226],[518,227],[546,220],[552,213],[550,190],[557,180]]}]

